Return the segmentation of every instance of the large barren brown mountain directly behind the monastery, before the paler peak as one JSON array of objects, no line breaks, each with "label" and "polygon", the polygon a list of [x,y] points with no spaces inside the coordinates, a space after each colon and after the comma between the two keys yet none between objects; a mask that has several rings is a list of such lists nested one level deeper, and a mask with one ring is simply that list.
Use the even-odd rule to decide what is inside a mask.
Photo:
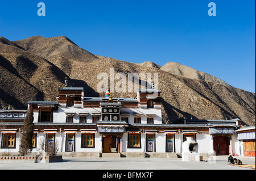
[{"label": "large barren brown mountain directly behind the monastery, before the paler peak", "polygon": [[[56,100],[57,89],[68,77],[73,86],[85,89],[85,96],[97,92],[99,73],[158,73],[162,91],[163,122],[185,119],[234,119],[255,125],[255,94],[220,83],[169,73],[162,68],[138,65],[96,56],[65,36],[30,37],[19,41],[0,38],[0,108],[9,104],[26,108],[28,100]],[[107,63],[106,63],[107,62]],[[115,80],[117,83],[118,80]],[[126,90],[128,87],[126,87]],[[112,92],[114,97],[134,98],[136,92]]]}]

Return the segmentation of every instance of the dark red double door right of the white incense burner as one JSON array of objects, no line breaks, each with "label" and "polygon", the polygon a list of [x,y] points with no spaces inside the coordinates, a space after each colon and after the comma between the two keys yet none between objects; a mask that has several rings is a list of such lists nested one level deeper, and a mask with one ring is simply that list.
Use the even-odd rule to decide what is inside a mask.
[{"label": "dark red double door right of the white incense burner", "polygon": [[213,149],[216,151],[216,155],[228,155],[229,154],[229,137],[216,136],[213,138]]}]

